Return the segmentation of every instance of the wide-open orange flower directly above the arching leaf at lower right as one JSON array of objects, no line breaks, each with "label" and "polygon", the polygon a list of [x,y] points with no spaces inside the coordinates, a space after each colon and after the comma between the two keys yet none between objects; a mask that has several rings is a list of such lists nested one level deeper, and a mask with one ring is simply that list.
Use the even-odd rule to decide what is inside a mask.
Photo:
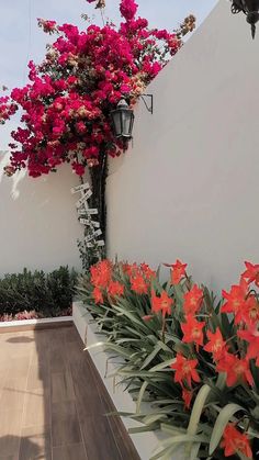
[{"label": "wide-open orange flower directly above the arching leaf at lower right", "polygon": [[236,356],[225,351],[216,366],[217,372],[226,372],[226,384],[233,386],[236,383],[244,381],[254,385],[254,379],[249,369],[249,361],[247,359],[239,359]]}]

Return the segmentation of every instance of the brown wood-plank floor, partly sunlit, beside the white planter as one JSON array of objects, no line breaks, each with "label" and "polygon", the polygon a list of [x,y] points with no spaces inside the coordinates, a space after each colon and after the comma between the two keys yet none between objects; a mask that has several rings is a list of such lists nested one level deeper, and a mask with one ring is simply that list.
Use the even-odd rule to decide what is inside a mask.
[{"label": "brown wood-plank floor, partly sunlit, beside the white planter", "polygon": [[0,460],[139,460],[74,326],[0,334]]}]

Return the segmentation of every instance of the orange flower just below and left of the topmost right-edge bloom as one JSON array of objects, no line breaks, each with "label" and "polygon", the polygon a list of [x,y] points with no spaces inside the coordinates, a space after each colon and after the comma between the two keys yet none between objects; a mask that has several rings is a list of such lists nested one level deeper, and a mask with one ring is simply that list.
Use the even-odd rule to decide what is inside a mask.
[{"label": "orange flower just below and left of the topmost right-edge bloom", "polygon": [[229,293],[224,290],[222,291],[223,298],[226,299],[226,302],[222,305],[222,313],[234,313],[235,324],[238,324],[243,319],[248,284],[245,279],[241,279],[239,284],[233,285]]}]

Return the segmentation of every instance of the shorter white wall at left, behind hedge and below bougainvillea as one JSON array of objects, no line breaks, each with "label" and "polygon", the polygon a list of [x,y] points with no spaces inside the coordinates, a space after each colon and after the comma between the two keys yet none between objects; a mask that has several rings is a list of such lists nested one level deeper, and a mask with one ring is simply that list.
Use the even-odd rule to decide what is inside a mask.
[{"label": "shorter white wall at left, behind hedge and below bougainvillea", "polygon": [[[5,162],[2,157],[0,170]],[[52,270],[60,265],[80,269],[77,238],[81,227],[70,188],[78,184],[70,168],[31,179],[0,177],[0,276],[23,267]]]}]

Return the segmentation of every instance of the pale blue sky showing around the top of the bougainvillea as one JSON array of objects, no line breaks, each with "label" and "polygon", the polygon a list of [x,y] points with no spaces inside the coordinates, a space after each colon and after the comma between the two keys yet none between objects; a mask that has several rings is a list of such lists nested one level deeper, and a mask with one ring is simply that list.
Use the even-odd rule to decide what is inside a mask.
[{"label": "pale blue sky showing around the top of the bougainvillea", "polygon": [[[120,0],[106,0],[105,15],[115,23],[120,22],[119,3]],[[200,25],[217,0],[138,0],[137,3],[139,15],[146,18],[150,26],[172,31],[189,13],[196,16]],[[55,20],[59,24],[72,23],[81,29],[86,27],[80,18],[82,13],[94,14],[100,21],[99,10],[86,0],[0,0],[0,88],[4,85],[10,89],[26,83],[29,60],[41,63],[45,45],[50,41],[37,27],[37,18]],[[0,126],[0,150],[7,149],[16,122],[14,119]]]}]

